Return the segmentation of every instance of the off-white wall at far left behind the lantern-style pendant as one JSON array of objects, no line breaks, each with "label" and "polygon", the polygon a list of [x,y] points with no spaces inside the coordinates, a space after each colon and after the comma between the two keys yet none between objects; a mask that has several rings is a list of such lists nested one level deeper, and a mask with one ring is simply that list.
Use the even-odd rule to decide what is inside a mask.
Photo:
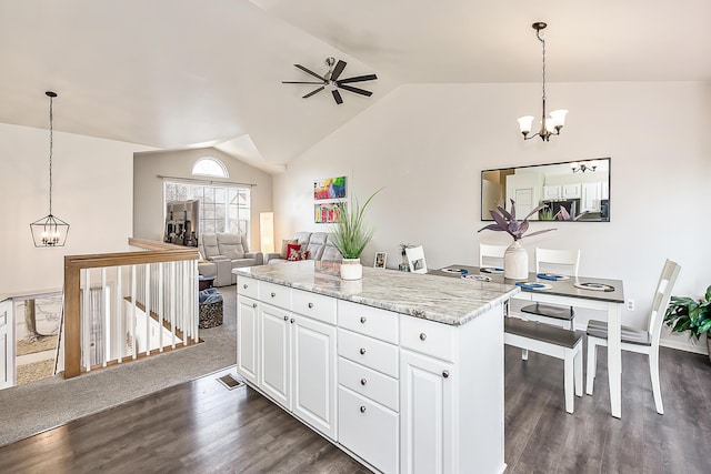
[{"label": "off-white wall at far left behind the lantern-style pendant", "polygon": [[49,211],[49,131],[0,123],[0,294],[60,289],[63,256],[126,251],[133,152],[147,147],[54,131],[52,213],[63,248],[36,249],[30,223]]}]

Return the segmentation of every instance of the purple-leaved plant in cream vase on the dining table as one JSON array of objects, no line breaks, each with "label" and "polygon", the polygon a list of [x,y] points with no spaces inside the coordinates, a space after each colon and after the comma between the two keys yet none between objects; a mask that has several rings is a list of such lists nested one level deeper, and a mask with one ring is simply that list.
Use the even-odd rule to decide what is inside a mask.
[{"label": "purple-leaved plant in cream vase on the dining table", "polygon": [[[484,225],[479,229],[479,232],[489,230],[497,232],[508,232],[513,238],[513,243],[509,245],[503,255],[503,276],[507,279],[523,280],[529,276],[529,254],[525,249],[519,242],[523,239],[523,234],[529,230],[529,218],[537,212],[548,208],[545,204],[541,204],[529,214],[523,218],[523,221],[517,221],[515,219],[515,202],[511,200],[511,211],[507,211],[504,208],[498,205],[499,212],[489,210],[489,213],[495,221],[493,224]],[[543,232],[554,231],[555,229],[545,229],[542,231],[535,231],[528,234],[538,235]]]}]

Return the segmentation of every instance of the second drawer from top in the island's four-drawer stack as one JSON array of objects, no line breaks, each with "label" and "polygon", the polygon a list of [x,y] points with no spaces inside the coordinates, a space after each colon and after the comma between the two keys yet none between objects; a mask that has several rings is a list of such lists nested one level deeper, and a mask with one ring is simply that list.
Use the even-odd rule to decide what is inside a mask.
[{"label": "second drawer from top in the island's four-drawer stack", "polygon": [[338,355],[398,377],[400,364],[397,345],[339,329]]}]

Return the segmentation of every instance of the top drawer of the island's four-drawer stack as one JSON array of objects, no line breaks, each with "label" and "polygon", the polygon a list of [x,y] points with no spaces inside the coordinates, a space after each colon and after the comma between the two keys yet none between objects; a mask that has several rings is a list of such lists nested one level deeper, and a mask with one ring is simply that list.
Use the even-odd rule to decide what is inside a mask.
[{"label": "top drawer of the island's four-drawer stack", "polygon": [[338,325],[381,341],[398,343],[399,314],[364,304],[338,301]]}]

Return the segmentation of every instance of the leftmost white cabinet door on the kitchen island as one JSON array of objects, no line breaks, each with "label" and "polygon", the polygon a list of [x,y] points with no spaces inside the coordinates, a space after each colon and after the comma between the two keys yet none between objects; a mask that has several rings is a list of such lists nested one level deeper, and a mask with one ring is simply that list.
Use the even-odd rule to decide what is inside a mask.
[{"label": "leftmost white cabinet door on the kitchen island", "polygon": [[259,366],[257,309],[257,301],[238,296],[237,372],[253,384],[257,384],[257,367]]}]

